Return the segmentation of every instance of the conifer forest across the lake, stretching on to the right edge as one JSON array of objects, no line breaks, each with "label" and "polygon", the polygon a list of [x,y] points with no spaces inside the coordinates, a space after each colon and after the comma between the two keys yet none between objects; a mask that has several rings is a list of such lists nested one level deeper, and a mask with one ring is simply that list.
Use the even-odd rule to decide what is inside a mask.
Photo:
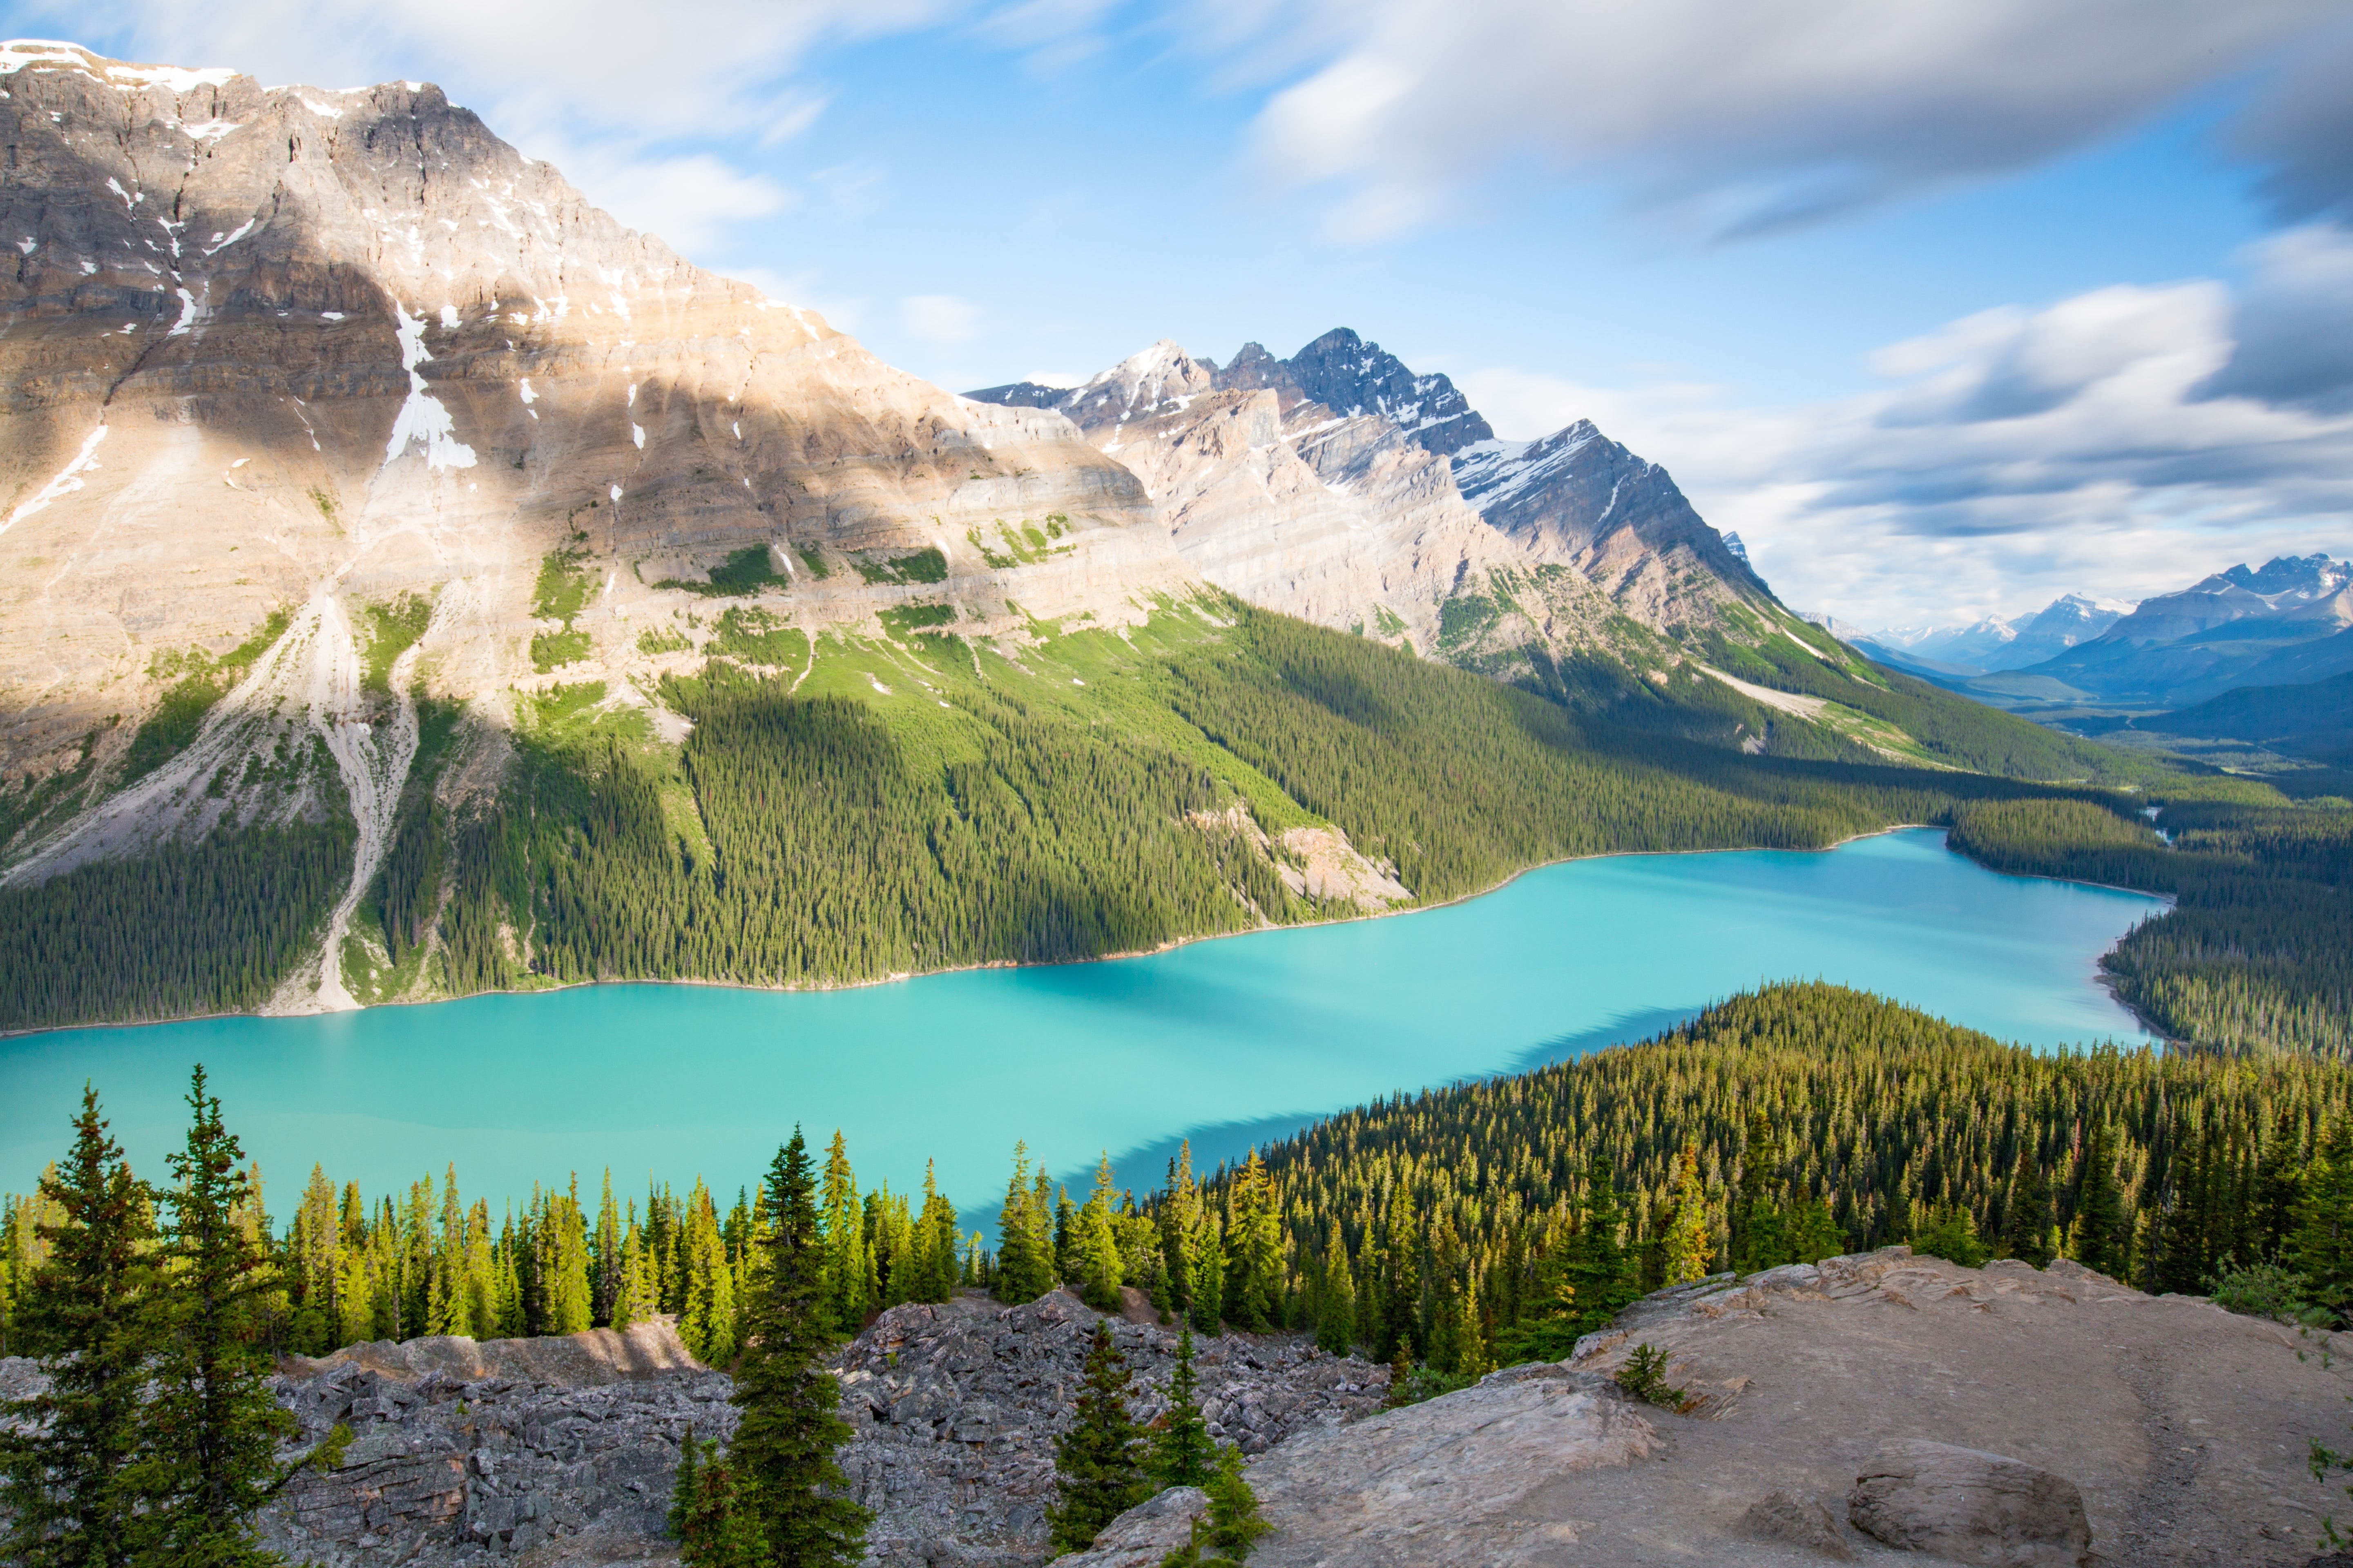
[{"label": "conifer forest across the lake, stretching on to the right edge", "polygon": [[[802,675],[711,658],[661,686],[692,722],[675,748],[642,719],[591,722],[600,686],[558,689],[534,698],[496,795],[454,809],[433,773],[454,712],[428,703],[365,907],[433,994],[826,985],[1355,912],[1285,884],[1294,825],[1339,827],[1438,903],[1567,856],[1821,849],[1941,823],[1998,870],[2174,896],[2108,959],[2153,1027],[2221,1048],[2353,1044],[2353,811],[2329,802],[2061,743],[1915,682],[1882,693],[1887,715],[1988,771],[1835,736],[1809,748],[1798,724],[1746,755],[1732,710],[1767,719],[1715,682],[1673,698],[1631,679],[1539,693],[1240,602],[1219,611],[1214,630],[1186,621],[1195,635],[1148,654],[1061,639],[1122,649],[1115,679],[1085,696],[929,630],[894,654],[929,672],[936,701],[922,703],[800,693]],[[1741,670],[1805,691],[1828,679],[1809,661]],[[2031,778],[2101,757],[2104,778]],[[348,853],[336,818],[0,889],[0,1027],[254,1006],[315,943]]]}]

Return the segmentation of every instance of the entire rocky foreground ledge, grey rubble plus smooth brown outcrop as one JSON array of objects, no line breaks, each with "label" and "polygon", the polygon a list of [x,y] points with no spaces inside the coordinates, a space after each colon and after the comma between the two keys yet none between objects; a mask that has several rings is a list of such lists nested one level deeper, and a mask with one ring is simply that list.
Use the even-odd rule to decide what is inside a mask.
[{"label": "entire rocky foreground ledge, grey rubble plus smooth brown outcrop", "polygon": [[[1068,1295],[894,1307],[845,1347],[845,1469],[878,1568],[1047,1559],[1042,1509],[1096,1314]],[[1158,1408],[1174,1335],[1115,1321]],[[1612,1373],[1668,1352],[1680,1410]],[[1386,1368],[1289,1335],[1200,1342],[1205,1413],[1252,1453],[1254,1568],[1922,1563],[2301,1568],[2306,1446],[2348,1446],[2353,1347],[2082,1267],[1885,1248],[1652,1295],[1558,1366],[1384,1410]],[[31,1363],[0,1361],[0,1394]],[[409,1340],[289,1363],[311,1432],[358,1441],[268,1521],[292,1561],[671,1563],[678,1443],[732,1432],[725,1373],[668,1326]],[[1167,1493],[1064,1568],[1158,1568]]]}]

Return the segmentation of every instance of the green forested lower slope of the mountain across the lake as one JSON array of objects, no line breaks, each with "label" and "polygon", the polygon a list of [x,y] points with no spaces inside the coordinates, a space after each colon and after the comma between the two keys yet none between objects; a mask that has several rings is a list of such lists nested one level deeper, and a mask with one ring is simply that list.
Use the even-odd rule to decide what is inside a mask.
[{"label": "green forested lower slope of the mountain across the lake", "polygon": [[[1445,900],[1562,856],[1817,849],[2045,792],[1748,757],[1708,705],[1675,710],[1692,733],[1628,726],[1238,602],[1012,656],[932,628],[715,646],[656,691],[682,743],[602,682],[522,693],[501,788],[456,806],[438,769],[461,717],[426,703],[353,990],[1082,959],[1358,912],[1285,884],[1289,827],[1329,823]],[[339,891],[320,867],[348,823],[306,832],[0,891],[0,1027],[252,1006]]]}]

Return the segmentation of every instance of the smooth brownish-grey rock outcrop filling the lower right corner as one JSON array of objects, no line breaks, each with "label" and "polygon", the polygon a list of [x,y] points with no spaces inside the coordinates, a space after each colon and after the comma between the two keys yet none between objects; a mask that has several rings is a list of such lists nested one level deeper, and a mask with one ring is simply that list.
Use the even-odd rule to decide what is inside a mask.
[{"label": "smooth brownish-grey rock outcrop filling the lower right corner", "polygon": [[[1689,1408],[1617,1389],[1642,1342]],[[2278,1324],[1899,1246],[1664,1291],[1562,1366],[1294,1436],[1249,1465],[1275,1526],[1249,1561],[2292,1568],[2348,1392],[2341,1347]]]}]

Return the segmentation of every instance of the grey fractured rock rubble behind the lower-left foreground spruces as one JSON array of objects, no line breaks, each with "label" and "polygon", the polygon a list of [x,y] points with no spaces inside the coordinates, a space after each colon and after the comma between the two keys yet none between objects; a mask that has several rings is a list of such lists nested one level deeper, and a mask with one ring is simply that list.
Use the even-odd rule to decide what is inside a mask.
[{"label": "grey fractured rock rubble behind the lower-left foreground spruces", "polygon": [[[1014,1568],[1047,1559],[1054,1439],[1068,1427],[1096,1314],[1066,1293],[1026,1307],[960,1295],[894,1307],[842,1347],[842,1469],[875,1512],[868,1563]],[[1113,1319],[1151,1420],[1176,1335]],[[1212,1434],[1266,1453],[1379,1410],[1388,1371],[1294,1335],[1195,1345]],[[35,1382],[0,1359],[0,1396]],[[687,1427],[727,1439],[734,1382],[699,1366],[668,1321],[628,1335],[358,1345],[289,1361],[278,1380],[308,1439],[348,1422],[341,1469],[296,1481],[268,1544],[325,1568],[675,1561],[664,1537]],[[1193,1493],[1198,1497],[1198,1493]],[[1167,1505],[1165,1505],[1167,1507]],[[1158,1568],[1158,1559],[1153,1559]]]}]

